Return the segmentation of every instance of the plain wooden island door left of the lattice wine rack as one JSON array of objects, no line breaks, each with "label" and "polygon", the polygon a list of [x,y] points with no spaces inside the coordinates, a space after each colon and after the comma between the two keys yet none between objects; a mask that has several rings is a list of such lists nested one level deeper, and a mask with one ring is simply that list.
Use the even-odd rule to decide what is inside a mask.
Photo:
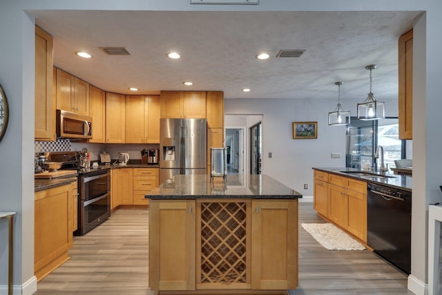
[{"label": "plain wooden island door left of the lattice wine rack", "polygon": [[151,200],[149,237],[149,287],[194,290],[195,200]]}]

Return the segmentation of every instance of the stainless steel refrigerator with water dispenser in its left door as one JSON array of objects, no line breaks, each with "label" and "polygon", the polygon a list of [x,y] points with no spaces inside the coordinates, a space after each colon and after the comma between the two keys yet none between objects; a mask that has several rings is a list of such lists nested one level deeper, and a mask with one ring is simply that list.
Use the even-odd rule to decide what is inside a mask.
[{"label": "stainless steel refrigerator with water dispenser in its left door", "polygon": [[206,174],[206,119],[160,120],[160,183],[177,174]]}]

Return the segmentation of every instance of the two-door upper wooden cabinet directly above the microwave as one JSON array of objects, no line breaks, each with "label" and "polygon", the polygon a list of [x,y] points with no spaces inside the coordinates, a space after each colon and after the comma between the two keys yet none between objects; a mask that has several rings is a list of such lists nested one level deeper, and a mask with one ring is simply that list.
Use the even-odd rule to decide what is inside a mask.
[{"label": "two-door upper wooden cabinet directly above the microwave", "polygon": [[89,84],[57,68],[57,109],[89,115]]}]

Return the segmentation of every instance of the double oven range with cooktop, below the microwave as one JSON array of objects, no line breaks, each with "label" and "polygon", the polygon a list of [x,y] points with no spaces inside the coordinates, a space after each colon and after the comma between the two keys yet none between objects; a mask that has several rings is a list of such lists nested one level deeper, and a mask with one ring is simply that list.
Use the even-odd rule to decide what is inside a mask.
[{"label": "double oven range with cooktop, below the microwave", "polygon": [[82,236],[111,216],[111,169],[83,168],[76,151],[46,153],[51,162],[63,162],[61,169],[78,173],[78,225]]}]

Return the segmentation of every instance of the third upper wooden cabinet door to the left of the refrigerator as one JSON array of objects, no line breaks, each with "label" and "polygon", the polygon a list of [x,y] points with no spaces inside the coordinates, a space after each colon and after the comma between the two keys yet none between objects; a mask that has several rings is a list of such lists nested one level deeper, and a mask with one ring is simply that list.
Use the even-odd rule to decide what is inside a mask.
[{"label": "third upper wooden cabinet door to the left of the refrigerator", "polygon": [[124,144],[126,105],[122,94],[106,93],[106,142]]}]

